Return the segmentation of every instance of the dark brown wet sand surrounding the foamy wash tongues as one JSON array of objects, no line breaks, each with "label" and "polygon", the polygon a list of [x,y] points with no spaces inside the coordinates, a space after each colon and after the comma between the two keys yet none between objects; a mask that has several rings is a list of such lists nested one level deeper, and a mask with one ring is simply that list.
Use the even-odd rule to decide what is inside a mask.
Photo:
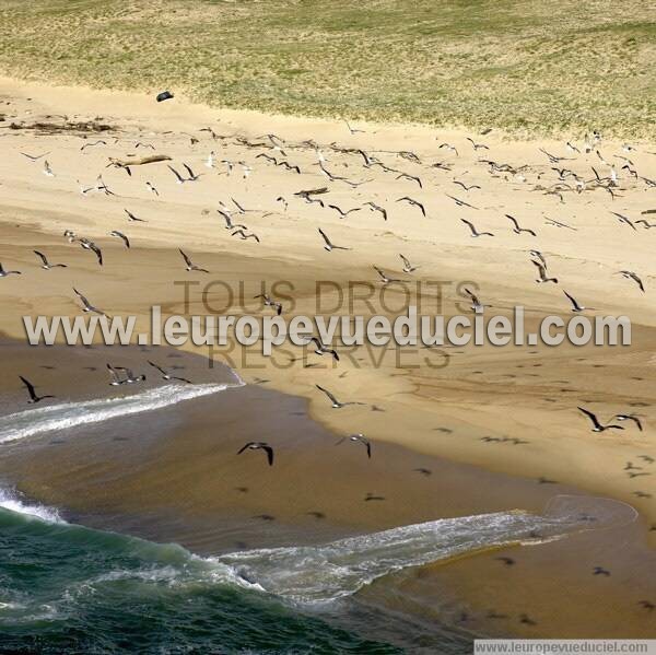
[{"label": "dark brown wet sand surrounding the foamy wash tongues", "polygon": [[[117,358],[176,362],[180,374],[200,377],[201,384],[230,378],[221,370],[208,371],[202,358],[171,349],[94,347],[70,352],[66,347],[7,342],[0,349],[11,369],[20,361],[21,370],[32,374],[38,364],[45,372],[45,385],[63,366],[83,372],[89,364]],[[60,388],[57,403],[106,394],[104,371],[95,369]],[[157,388],[160,383],[148,385]],[[223,429],[216,434],[212,429],[218,417],[230,432]],[[268,429],[268,440],[276,444],[277,453],[271,470],[262,466],[257,453],[235,455],[243,441],[271,422],[276,429]],[[644,574],[645,569],[653,570],[656,553],[645,545],[644,523],[634,522],[628,508],[600,498],[573,495],[578,491],[558,484],[536,486],[391,444],[374,444],[373,458],[367,460],[359,448],[348,444],[335,448],[335,443],[333,434],[309,419],[303,400],[247,385],[130,419],[84,423],[61,435],[46,432],[8,442],[0,456],[0,475],[3,486],[13,479],[27,499],[57,508],[73,524],[180,543],[201,557],[220,558],[261,548],[319,546],[440,519],[483,521],[495,512],[558,515],[562,503],[562,511],[572,514],[566,507],[573,503],[581,507],[576,512],[598,515],[608,527],[590,524],[588,529],[584,524],[582,531],[537,543],[529,539],[481,545],[377,580],[353,601],[374,611],[410,612],[427,633],[445,625],[490,636],[566,633],[620,638],[620,628],[631,625],[632,635],[651,634],[643,613],[632,605],[634,597],[648,596],[656,587],[656,578]],[[418,476],[413,467],[426,468],[431,475]],[[320,489],[316,480],[321,480]],[[365,493],[367,489],[374,491]],[[370,493],[375,493],[378,502],[363,503]],[[551,506],[557,510],[549,510]],[[317,511],[320,519],[311,516]],[[520,589],[508,587],[514,566],[508,571],[501,564],[504,557],[518,562]],[[588,577],[599,561],[613,575],[619,572],[619,578],[605,584],[612,612],[605,615],[604,628],[596,631],[599,612],[582,608],[598,593]],[[639,573],[641,569],[643,573]],[[537,584],[543,589],[539,598],[531,592]],[[576,603],[557,598],[553,590],[547,593],[564,584],[576,588]],[[397,590],[390,595],[390,589]],[[415,606],[419,599],[421,610]],[[519,622],[524,613],[536,621],[539,632]]]}]

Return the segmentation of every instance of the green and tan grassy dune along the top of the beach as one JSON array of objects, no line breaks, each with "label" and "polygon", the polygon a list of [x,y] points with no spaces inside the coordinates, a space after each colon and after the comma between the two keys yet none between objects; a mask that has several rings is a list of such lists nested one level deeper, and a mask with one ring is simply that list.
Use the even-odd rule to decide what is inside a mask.
[{"label": "green and tan grassy dune along the top of the beach", "polygon": [[0,72],[216,106],[656,136],[644,0],[0,0]]}]

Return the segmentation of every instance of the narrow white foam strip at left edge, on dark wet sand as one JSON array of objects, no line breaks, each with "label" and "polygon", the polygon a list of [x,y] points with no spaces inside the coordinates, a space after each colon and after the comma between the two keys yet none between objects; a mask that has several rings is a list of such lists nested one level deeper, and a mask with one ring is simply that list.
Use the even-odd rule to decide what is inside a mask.
[{"label": "narrow white foam strip at left edge, on dark wet sand", "polygon": [[98,423],[117,417],[161,409],[176,402],[218,394],[236,384],[167,384],[131,396],[59,402],[0,417],[0,443],[12,442],[55,430]]}]

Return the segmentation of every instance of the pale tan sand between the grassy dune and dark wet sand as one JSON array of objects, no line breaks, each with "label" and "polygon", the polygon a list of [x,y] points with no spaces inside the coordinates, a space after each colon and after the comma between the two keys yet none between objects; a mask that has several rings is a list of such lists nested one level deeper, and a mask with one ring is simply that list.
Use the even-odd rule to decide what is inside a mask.
[{"label": "pale tan sand between the grassy dune and dark wet sand", "polygon": [[[21,277],[0,280],[3,291],[0,329],[9,337],[23,338],[21,317],[24,314],[77,315],[79,306],[71,292],[73,285],[112,315],[139,315],[143,327],[153,304],[162,305],[166,313],[184,313],[183,290],[174,282],[202,281],[203,277],[185,273],[178,247],[211,271],[207,280],[223,280],[235,285],[243,281],[248,312],[261,311],[253,296],[259,293],[262,281],[270,284],[288,280],[294,285],[291,294],[294,307],[292,309],[288,302],[285,313],[312,315],[317,300],[316,281],[330,280],[342,288],[348,288],[352,280],[376,283],[372,265],[397,277],[398,253],[421,267],[412,276],[413,280],[453,282],[445,285],[442,299],[447,315],[457,313],[457,307],[466,307],[456,293],[456,284],[476,282],[481,299],[499,313],[509,313],[515,304],[525,305],[530,327],[542,315],[570,315],[561,291],[564,288],[586,306],[595,308],[588,312],[590,315],[628,315],[633,323],[633,344],[630,348],[471,346],[441,352],[403,349],[400,354],[387,352],[382,360],[378,350],[362,348],[352,358],[342,356],[337,366],[311,352],[305,363],[312,367],[305,366],[302,359],[290,363],[290,358],[302,358],[300,348],[285,347],[289,355],[279,352],[272,360],[261,358],[255,349],[239,348],[224,355],[215,353],[215,356],[233,364],[247,382],[265,378],[269,388],[307,398],[312,417],[333,432],[362,431],[374,443],[389,442],[421,455],[519,476],[536,488],[544,487],[538,486],[539,477],[557,480],[630,503],[647,525],[656,523],[656,504],[652,498],[656,493],[656,477],[651,473],[649,465],[636,459],[639,455],[656,457],[651,425],[656,396],[653,375],[656,308],[651,302],[656,273],[653,257],[656,232],[633,231],[610,213],[612,210],[637,219],[641,211],[656,207],[654,188],[620,171],[616,200],[598,189],[581,195],[565,191],[564,202],[561,202],[555,196],[532,189],[536,184],[549,186],[557,180],[551,164],[538,148],[574,156],[566,152],[564,144],[515,142],[494,132],[475,136],[490,149],[475,153],[464,133],[435,132],[412,126],[360,125],[358,127],[365,132],[350,134],[339,122],[220,112],[185,105],[177,100],[156,104],[153,98],[140,95],[49,87],[12,80],[0,81],[0,103],[3,103],[0,113],[5,114],[5,121],[0,124],[3,154],[0,161],[3,235],[0,261],[5,268],[23,271]],[[37,121],[61,125],[62,115],[71,121],[96,119],[112,129],[101,136],[87,134],[85,141],[83,133],[9,127],[12,121],[23,124],[23,128]],[[208,126],[231,138],[213,141],[208,132],[199,131]],[[189,136],[183,132],[194,134],[199,142],[190,143]],[[298,176],[256,159],[260,152],[280,156],[279,153],[247,148],[235,139],[244,136],[261,141],[260,136],[270,132],[294,143],[313,139],[323,147],[331,171],[349,178],[371,179],[355,190],[341,183],[330,184],[329,199],[349,208],[373,199],[388,209],[389,220],[384,222],[377,213],[368,211],[355,212],[342,220],[332,211],[294,199],[294,191],[324,186],[326,180],[318,174],[313,149],[290,148],[286,153],[288,159],[304,171]],[[104,139],[107,144],[80,150],[96,139]],[[152,153],[137,149],[138,141],[152,143],[156,153],[174,157],[176,167],[183,161],[189,163],[196,172],[204,173],[203,177],[198,183],[176,185],[164,164],[134,166],[131,177],[124,171],[105,168],[109,156]],[[455,143],[459,156],[440,150],[443,141]],[[424,188],[419,189],[409,180],[397,180],[395,175],[377,168],[363,169],[358,155],[333,152],[329,147],[333,142],[344,148],[378,151],[377,156],[388,165],[421,175]],[[577,144],[582,145],[579,141]],[[607,161],[613,155],[628,156],[641,175],[655,177],[656,156],[649,153],[654,145],[634,145],[637,150],[631,153],[624,152],[620,143],[606,141],[599,149]],[[202,162],[210,150],[216,153],[216,160],[247,162],[253,167],[248,179],[242,178],[238,165],[230,177],[219,174],[224,172],[221,164],[216,169],[206,168]],[[390,154],[401,150],[415,152],[424,164]],[[56,176],[43,175],[42,161],[33,163],[21,152],[49,152],[47,159]],[[529,172],[525,173],[527,182],[508,174],[490,175],[488,167],[478,162],[481,156],[513,165],[530,164]],[[436,161],[450,163],[453,169],[430,167]],[[618,162],[619,171],[623,162],[612,161]],[[586,179],[593,176],[590,166],[600,169],[602,175],[608,174],[608,167],[595,153],[576,155],[563,164]],[[116,197],[80,194],[80,185],[91,186],[98,173]],[[482,188],[466,194],[453,184],[454,178]],[[159,197],[149,191],[145,180],[155,185]],[[445,194],[465,198],[480,209],[457,208]],[[276,202],[280,195],[290,201],[286,212]],[[418,210],[394,201],[405,195],[425,203],[427,219]],[[235,214],[234,219],[246,222],[261,243],[232,238],[223,229],[223,220],[215,209],[219,200],[229,203],[231,197],[254,210],[245,217]],[[128,223],[124,208],[148,223]],[[538,236],[513,234],[505,213],[516,215]],[[548,225],[546,217],[564,221],[576,231]],[[460,218],[492,231],[494,238],[472,239]],[[353,249],[326,253],[317,235],[318,226],[336,243],[348,243]],[[105,266],[98,267],[93,255],[69,245],[61,236],[66,229],[101,245]],[[126,232],[132,241],[132,249],[125,250],[117,239],[110,238],[110,230]],[[69,268],[39,270],[33,248],[46,252],[54,261],[65,261]],[[527,255],[530,248],[547,255],[550,272],[560,279],[560,286],[535,283],[535,270]],[[641,274],[645,294],[617,274],[624,268]],[[190,313],[204,313],[200,289],[191,292]],[[389,299],[395,297],[391,291],[387,293]],[[209,290],[208,300],[221,306],[225,304],[226,294],[215,286]],[[398,294],[396,300],[399,301]],[[429,308],[435,308],[435,303],[426,296],[422,301]],[[354,313],[359,311],[364,311],[362,303],[355,304]],[[245,311],[236,307],[226,313],[242,312]],[[349,308],[340,307],[335,313],[347,314]],[[194,349],[189,347],[189,350]],[[207,349],[204,352],[196,350],[207,354]],[[430,366],[426,361],[438,365]],[[444,362],[447,365],[440,365]],[[317,383],[338,390],[347,399],[376,405],[384,411],[358,407],[335,411],[316,391]],[[16,397],[17,394],[20,390]],[[619,412],[640,412],[645,431],[640,433],[628,425],[622,433],[594,434],[578,414],[577,405],[598,411],[604,419]],[[483,436],[515,437],[528,443],[487,443],[481,441]],[[630,478],[624,470],[626,461],[643,467],[642,472],[649,476]],[[656,465],[652,465],[652,469],[656,470]],[[636,492],[648,498],[637,498]],[[361,515],[353,516],[356,516],[355,523],[367,525]],[[643,527],[642,535],[631,542],[641,551],[641,557],[649,558],[640,543],[644,539]],[[614,543],[617,546],[617,541]],[[542,560],[535,555],[538,561],[532,570],[549,571],[558,577],[559,549],[562,548],[532,549],[531,552],[547,553]],[[591,601],[598,589],[584,584],[588,577],[597,582],[589,575],[589,549],[586,557],[579,569],[581,585],[576,582],[576,588],[584,589],[581,593],[588,594],[586,598]],[[457,566],[443,571],[456,571]],[[505,574],[494,566],[487,573],[490,581],[504,581]],[[456,573],[452,575],[454,580],[458,577]],[[443,577],[445,582],[448,580],[446,573]],[[570,576],[570,580],[573,578]],[[459,583],[453,584],[458,588]],[[613,577],[608,588],[612,586],[613,593],[620,594],[622,584],[622,580]],[[494,588],[492,582],[490,585],[489,588]],[[500,598],[504,593],[512,598],[515,592],[515,585],[503,587],[502,583],[494,588]],[[608,589],[607,593],[609,597],[613,595]],[[476,589],[468,589],[472,603],[476,594]],[[621,592],[624,594],[626,589]],[[548,620],[540,621],[540,634],[562,635],[567,630],[574,634],[576,625],[588,623],[590,631],[594,625],[598,627],[595,634],[617,634],[619,629],[611,630],[609,621],[617,615],[618,607],[626,608],[624,625],[631,625],[630,631],[626,628],[626,635],[647,634],[644,615],[635,609],[637,598],[633,593],[626,595],[630,598],[622,598],[619,605],[598,607],[593,613],[579,608],[582,617],[593,617],[587,622],[577,619],[574,605],[567,606],[569,613],[564,611],[565,606],[554,609],[559,607],[555,596],[530,598],[530,601],[538,606],[536,611],[542,607],[540,604],[553,610],[540,612],[541,617],[549,615]]]}]

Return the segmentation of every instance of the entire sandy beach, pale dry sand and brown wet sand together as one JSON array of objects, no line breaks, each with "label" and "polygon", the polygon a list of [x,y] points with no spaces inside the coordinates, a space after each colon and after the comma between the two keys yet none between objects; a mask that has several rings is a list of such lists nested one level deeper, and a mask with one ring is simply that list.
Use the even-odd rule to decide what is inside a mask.
[{"label": "entire sandy beach, pale dry sand and brown wet sand together", "polygon": [[[85,525],[177,541],[202,553],[230,551],[237,541],[255,548],[294,540],[317,543],[445,517],[509,510],[539,513],[559,494],[611,499],[637,512],[630,527],[631,511],[617,510],[624,518],[607,530],[421,568],[401,586],[408,597],[423,599],[418,616],[429,621],[448,617],[472,633],[655,636],[648,611],[639,601],[656,601],[656,578],[645,573],[656,570],[656,465],[648,463],[656,458],[656,232],[632,229],[611,213],[652,220],[641,212],[656,208],[655,190],[621,171],[614,199],[599,188],[544,192],[559,182],[554,166],[566,165],[586,179],[591,167],[608,174],[597,150],[608,161],[630,157],[641,176],[653,179],[654,144],[636,141],[628,153],[623,142],[604,139],[593,152],[576,154],[565,150],[564,140],[517,141],[495,130],[481,136],[359,122],[362,131],[351,133],[336,120],[221,110],[178,97],[157,104],[144,94],[11,79],[0,79],[0,261],[5,269],[22,271],[0,280],[8,408],[24,401],[19,373],[34,378],[39,391],[58,397],[105,393],[105,371],[82,375],[84,358],[95,362],[87,365],[98,365],[93,351],[78,354],[75,348],[69,358],[63,346],[30,352],[10,346],[24,342],[24,315],[80,315],[73,286],[113,316],[136,315],[144,330],[152,305],[162,306],[166,315],[204,314],[207,305],[216,314],[270,313],[254,296],[262,283],[270,289],[276,281],[289,283],[289,300],[281,299],[285,314],[394,317],[391,308],[403,306],[406,299],[393,285],[384,290],[389,301],[385,306],[376,304],[372,311],[358,299],[349,306],[353,281],[382,292],[372,268],[377,266],[413,283],[441,281],[438,297],[421,286],[426,314],[467,311],[461,293],[467,283],[476,285],[496,314],[511,316],[515,305],[526,307],[527,329],[546,315],[571,316],[563,289],[585,303],[589,316],[625,315],[632,323],[630,347],[362,347],[344,350],[339,363],[307,348],[285,346],[265,358],[257,346],[234,342],[208,352],[188,343],[180,348],[185,365],[203,382],[225,375],[223,369],[207,369],[209,356],[234,369],[246,386],[176,406],[179,413],[171,424],[153,418],[156,438],[143,438],[150,419],[142,418],[128,442],[113,441],[120,434],[98,426],[90,429],[83,444],[66,440],[49,445],[42,438],[30,448],[12,445],[0,466],[20,490],[67,510]],[[211,128],[215,138],[203,128]],[[301,174],[257,156],[281,156],[262,137],[270,133],[284,143],[284,156]],[[487,145],[484,154],[467,141],[470,136]],[[458,155],[440,149],[444,142],[455,144]],[[574,142],[584,150],[581,139]],[[359,149],[420,176],[422,188],[380,168],[364,168],[362,156],[353,152]],[[540,149],[567,161],[553,164]],[[211,151],[215,167],[204,165]],[[353,188],[328,182],[317,166],[317,152],[335,174],[364,184]],[[408,152],[417,159],[399,154]],[[54,176],[44,175],[43,159],[32,161],[24,153],[47,153]],[[107,167],[110,157],[149,154],[172,160],[131,166],[130,175]],[[527,167],[522,174],[491,172],[481,159]],[[231,175],[222,160],[234,163]],[[166,163],[180,168],[183,162],[203,175],[175,184]],[[434,166],[437,162],[440,167]],[[622,162],[616,162],[621,169]],[[82,194],[99,174],[115,195]],[[323,186],[329,188],[326,202],[353,208],[371,200],[387,209],[387,221],[368,209],[340,218],[294,197],[301,189]],[[456,206],[447,194],[476,209]],[[419,199],[426,217],[396,201],[402,196]],[[235,211],[234,222],[246,223],[259,243],[235,238],[224,229],[216,209],[232,198],[246,210]],[[128,222],[125,209],[147,222]],[[537,236],[513,233],[505,214],[517,217]],[[471,238],[460,219],[494,237]],[[351,249],[327,253],[318,227]],[[67,243],[65,230],[95,242],[103,266],[77,243]],[[130,249],[109,235],[113,230],[129,236]],[[178,248],[210,272],[186,272]],[[536,283],[531,248],[548,258],[559,284]],[[39,269],[34,249],[67,268]],[[418,266],[412,274],[401,271],[399,254]],[[640,272],[644,293],[618,274],[625,268]],[[199,285],[190,288],[186,302],[181,283],[190,280]],[[203,291],[215,281],[221,284]],[[335,286],[326,285],[318,296],[317,283],[326,281]],[[226,284],[242,284],[243,299],[231,297]],[[337,288],[342,290],[341,303]],[[122,359],[143,367],[150,355],[131,348]],[[172,354],[162,351],[161,361],[171,364],[175,359],[166,358]],[[48,358],[56,370],[39,370]],[[61,377],[73,364],[78,373]],[[336,411],[317,384],[366,406]],[[238,402],[232,399],[236,394]],[[593,433],[577,406],[604,420],[636,413],[644,431],[626,423],[621,432]],[[220,424],[216,411],[223,417]],[[371,461],[355,445],[333,446],[339,436],[359,432],[373,444]],[[267,476],[256,466],[258,453],[234,455],[242,443],[265,435],[281,448],[279,464]],[[418,473],[418,468],[432,475]],[[235,491],[237,487],[249,491]],[[385,501],[364,501],[366,494]],[[274,521],[253,518],[262,515]],[[504,568],[496,559],[504,555],[518,564]],[[593,575],[599,565],[612,575]],[[364,596],[384,603],[380,585],[374,583]],[[542,593],[535,594],[534,585]],[[566,598],[565,585],[575,589]],[[523,613],[536,624],[522,622]]]}]

